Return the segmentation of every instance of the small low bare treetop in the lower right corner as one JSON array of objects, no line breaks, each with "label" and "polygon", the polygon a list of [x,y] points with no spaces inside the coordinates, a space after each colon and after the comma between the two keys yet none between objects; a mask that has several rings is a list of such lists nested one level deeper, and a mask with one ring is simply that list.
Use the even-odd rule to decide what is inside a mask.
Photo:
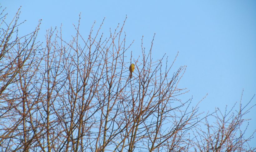
[{"label": "small low bare treetop in the lower right corner", "polygon": [[[206,128],[196,130],[195,150],[199,151],[255,151],[255,147],[249,145],[248,141],[253,138],[245,136],[247,125],[244,122],[244,115],[249,113],[253,106],[249,106],[252,99],[242,106],[242,96],[239,104],[239,110],[234,110],[235,105],[228,110],[227,106],[224,113],[219,109],[212,115],[216,122],[209,123],[205,118],[204,126]],[[254,131],[255,132],[255,131]]]}]

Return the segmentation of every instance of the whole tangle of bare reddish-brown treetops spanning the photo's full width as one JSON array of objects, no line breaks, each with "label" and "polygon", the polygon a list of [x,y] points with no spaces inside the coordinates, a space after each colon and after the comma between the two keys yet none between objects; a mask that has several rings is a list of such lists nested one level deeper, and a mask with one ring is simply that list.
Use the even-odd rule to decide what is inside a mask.
[{"label": "whole tangle of bare reddish-brown treetops spanning the photo's full width", "polygon": [[[101,33],[103,22],[84,37],[79,18],[70,41],[62,38],[61,28],[49,29],[43,44],[36,41],[40,21],[20,37],[20,11],[9,24],[3,12],[2,151],[255,150],[246,145],[253,136],[244,138],[246,129],[238,132],[253,106],[245,111],[241,106],[238,115],[233,109],[203,115],[199,103],[193,107],[192,99],[180,100],[186,90],[178,83],[186,66],[173,68],[177,56],[170,66],[168,57],[153,60],[154,36],[148,51],[141,39],[141,55],[134,59],[125,21],[107,37]],[[131,63],[135,71],[129,78]],[[209,116],[216,118],[215,126]]]}]

